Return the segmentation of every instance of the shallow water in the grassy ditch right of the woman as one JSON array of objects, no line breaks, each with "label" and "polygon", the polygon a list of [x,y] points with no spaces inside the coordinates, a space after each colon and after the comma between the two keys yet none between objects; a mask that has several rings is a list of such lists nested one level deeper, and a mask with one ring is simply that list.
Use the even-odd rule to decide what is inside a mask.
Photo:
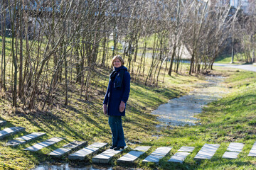
[{"label": "shallow water in the grassy ditch right of the woman", "polygon": [[196,84],[196,89],[188,95],[173,98],[153,111],[152,114],[159,115],[158,120],[161,122],[157,128],[196,125],[198,119],[194,115],[201,113],[207,103],[228,93],[227,88],[221,84],[223,77],[208,76],[206,79],[206,83]]}]

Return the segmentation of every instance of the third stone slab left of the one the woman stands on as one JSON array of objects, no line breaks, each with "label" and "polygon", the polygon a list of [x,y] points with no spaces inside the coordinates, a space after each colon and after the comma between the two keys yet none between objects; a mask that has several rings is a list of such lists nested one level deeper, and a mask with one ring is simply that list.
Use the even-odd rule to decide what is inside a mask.
[{"label": "third stone slab left of the one the woman stands on", "polygon": [[31,147],[27,147],[26,149],[23,149],[23,150],[36,152],[40,149],[43,149],[44,147],[49,147],[50,145],[53,145],[57,142],[60,142],[61,140],[64,140],[64,138],[62,138],[62,137],[53,137],[49,140],[46,140],[44,142],[40,142],[40,143],[38,143],[36,145],[33,145]]}]

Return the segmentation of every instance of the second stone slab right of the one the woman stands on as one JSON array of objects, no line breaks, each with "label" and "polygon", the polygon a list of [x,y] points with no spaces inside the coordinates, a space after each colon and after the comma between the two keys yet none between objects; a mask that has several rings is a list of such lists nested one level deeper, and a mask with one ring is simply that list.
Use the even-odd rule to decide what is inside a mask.
[{"label": "second stone slab right of the one the woman stands on", "polygon": [[171,151],[172,147],[159,147],[154,152],[152,152],[148,157],[146,157],[142,162],[159,162],[160,159],[166,156]]}]

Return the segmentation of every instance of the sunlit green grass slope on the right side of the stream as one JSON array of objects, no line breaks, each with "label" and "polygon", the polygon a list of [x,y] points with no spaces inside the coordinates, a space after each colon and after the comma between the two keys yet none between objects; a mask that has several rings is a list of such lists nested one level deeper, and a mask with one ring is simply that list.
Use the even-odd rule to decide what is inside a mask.
[{"label": "sunlit green grass slope on the right side of the stream", "polygon": [[[255,169],[256,159],[247,154],[256,140],[256,73],[230,73],[226,86],[233,87],[233,93],[208,104],[198,115],[201,125],[175,128],[154,143],[174,146],[172,154],[183,145],[196,147],[196,152],[188,156],[185,164],[163,163],[163,169]],[[222,159],[230,142],[245,143],[238,159]],[[193,157],[205,143],[220,144],[220,148],[213,159],[196,162]]]}]

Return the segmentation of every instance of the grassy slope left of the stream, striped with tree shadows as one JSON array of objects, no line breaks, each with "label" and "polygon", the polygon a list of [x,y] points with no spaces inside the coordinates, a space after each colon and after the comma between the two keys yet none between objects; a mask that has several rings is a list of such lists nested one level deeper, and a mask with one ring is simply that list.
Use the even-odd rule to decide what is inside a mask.
[{"label": "grassy slope left of the stream, striped with tree shadows", "polygon": [[[50,162],[50,157],[46,157],[45,154],[73,140],[84,140],[89,144],[92,142],[108,142],[110,144],[110,128],[107,117],[102,114],[102,100],[107,89],[109,71],[102,70],[102,74],[102,81],[97,82],[97,87],[100,88],[93,89],[98,94],[97,97],[90,98],[90,101],[83,101],[80,96],[75,96],[79,93],[74,93],[70,106],[53,105],[48,112],[44,113],[23,111],[20,108],[14,109],[2,93],[1,120],[8,121],[8,124],[1,127],[1,130],[12,126],[21,126],[26,128],[26,132],[1,140],[0,169],[31,169],[40,162]],[[133,147],[139,142],[156,140],[155,135],[161,132],[156,132],[156,117],[149,113],[161,103],[166,103],[169,98],[186,94],[194,81],[200,81],[200,78],[174,74],[174,77],[166,77],[165,83],[157,88],[132,83],[127,116],[124,118],[127,144]],[[31,132],[46,132],[47,135],[16,148],[2,146],[12,138]],[[23,148],[55,136],[65,137],[65,140],[37,153],[23,151]],[[68,162],[68,159],[63,159]],[[90,164],[90,161],[88,163]]]}]

